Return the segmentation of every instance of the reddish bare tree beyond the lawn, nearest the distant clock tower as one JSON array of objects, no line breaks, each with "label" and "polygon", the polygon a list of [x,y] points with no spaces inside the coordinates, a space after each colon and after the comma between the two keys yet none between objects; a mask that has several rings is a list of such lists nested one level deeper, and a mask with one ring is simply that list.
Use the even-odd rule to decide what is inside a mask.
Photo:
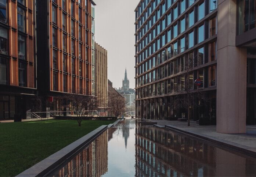
[{"label": "reddish bare tree beyond the lawn, nearest the distant clock tower", "polygon": [[113,116],[120,116],[125,113],[125,98],[117,91],[108,91],[108,108]]}]

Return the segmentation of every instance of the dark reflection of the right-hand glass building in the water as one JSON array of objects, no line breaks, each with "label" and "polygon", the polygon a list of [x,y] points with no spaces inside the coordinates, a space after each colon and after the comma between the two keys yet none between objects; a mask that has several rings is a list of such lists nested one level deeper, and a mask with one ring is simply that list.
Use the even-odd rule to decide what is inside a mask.
[{"label": "dark reflection of the right-hand glass building in the water", "polygon": [[135,176],[251,176],[256,173],[248,168],[256,165],[256,161],[163,129],[137,127],[135,148]]}]

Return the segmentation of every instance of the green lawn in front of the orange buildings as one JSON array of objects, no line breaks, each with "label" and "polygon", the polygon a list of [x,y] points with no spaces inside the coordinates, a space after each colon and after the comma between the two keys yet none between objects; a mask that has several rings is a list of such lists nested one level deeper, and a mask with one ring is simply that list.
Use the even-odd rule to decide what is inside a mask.
[{"label": "green lawn in front of the orange buildings", "polygon": [[0,124],[0,176],[15,176],[87,133],[113,121],[46,120]]}]

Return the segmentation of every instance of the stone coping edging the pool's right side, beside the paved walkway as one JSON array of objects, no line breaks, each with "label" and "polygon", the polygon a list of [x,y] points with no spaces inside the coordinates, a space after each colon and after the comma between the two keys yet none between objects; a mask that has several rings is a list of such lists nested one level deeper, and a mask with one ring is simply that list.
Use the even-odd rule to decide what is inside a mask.
[{"label": "stone coping edging the pool's right side, beside the paved walkway", "polygon": [[165,128],[192,138],[210,142],[215,146],[217,145],[219,147],[228,148],[230,150],[237,151],[239,153],[246,154],[249,155],[250,157],[256,158],[256,152],[252,151],[252,148],[249,146],[244,146],[242,144],[237,144],[223,139],[214,138],[213,136],[204,135],[202,133],[198,133],[195,131],[183,130],[173,125],[165,125]]}]

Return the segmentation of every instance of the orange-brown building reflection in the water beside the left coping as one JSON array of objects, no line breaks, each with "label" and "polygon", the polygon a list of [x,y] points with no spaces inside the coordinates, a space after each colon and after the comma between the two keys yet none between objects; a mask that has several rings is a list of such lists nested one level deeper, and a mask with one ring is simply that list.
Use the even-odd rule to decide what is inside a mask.
[{"label": "orange-brown building reflection in the water beside the left coping", "polygon": [[101,176],[108,171],[108,132],[105,131],[52,176]]}]

